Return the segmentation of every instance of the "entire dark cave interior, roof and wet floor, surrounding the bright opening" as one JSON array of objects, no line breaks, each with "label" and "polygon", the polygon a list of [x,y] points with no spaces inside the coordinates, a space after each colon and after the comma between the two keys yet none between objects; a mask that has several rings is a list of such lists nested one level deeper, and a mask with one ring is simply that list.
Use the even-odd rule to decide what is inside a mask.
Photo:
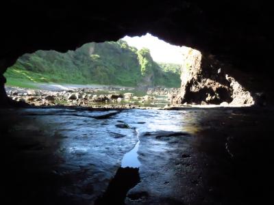
[{"label": "entire dark cave interior, roof and wet floor, surrounding the bright opening", "polygon": [[[9,1],[0,16],[3,204],[272,200],[269,3]],[[201,72],[182,79],[173,109],[29,107],[5,92],[4,72],[25,53],[66,52],[145,33],[203,56]],[[251,106],[179,106],[185,102]],[[138,167],[121,167],[132,150]]]}]

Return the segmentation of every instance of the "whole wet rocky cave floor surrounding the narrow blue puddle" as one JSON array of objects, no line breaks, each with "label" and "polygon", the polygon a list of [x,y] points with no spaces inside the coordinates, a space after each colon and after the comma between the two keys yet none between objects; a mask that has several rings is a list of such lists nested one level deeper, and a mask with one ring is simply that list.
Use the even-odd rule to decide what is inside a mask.
[{"label": "whole wet rocky cave floor surrounding the narrow blue puddle", "polygon": [[[264,204],[273,193],[273,113],[1,109],[1,201]],[[121,168],[138,139],[140,167]]]}]

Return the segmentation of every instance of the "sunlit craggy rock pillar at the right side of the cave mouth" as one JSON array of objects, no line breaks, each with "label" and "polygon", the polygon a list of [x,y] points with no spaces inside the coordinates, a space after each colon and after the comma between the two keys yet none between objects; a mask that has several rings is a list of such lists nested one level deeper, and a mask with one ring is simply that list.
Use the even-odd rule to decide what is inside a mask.
[{"label": "sunlit craggy rock pillar at the right side of the cave mouth", "polygon": [[181,93],[173,104],[253,105],[250,92],[222,67],[212,55],[190,49],[182,66]]}]

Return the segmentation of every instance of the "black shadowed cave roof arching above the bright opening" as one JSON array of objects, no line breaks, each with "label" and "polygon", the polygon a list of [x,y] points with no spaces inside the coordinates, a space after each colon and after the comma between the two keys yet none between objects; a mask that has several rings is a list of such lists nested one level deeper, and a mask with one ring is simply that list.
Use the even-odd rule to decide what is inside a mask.
[{"label": "black shadowed cave roof arching above the bright opening", "polygon": [[[2,3],[0,19],[1,98],[3,72],[24,53],[64,52],[147,32],[214,55],[236,70],[234,77],[247,90],[273,93],[273,12],[263,1],[11,0]],[[238,70],[248,77],[238,77]]]}]

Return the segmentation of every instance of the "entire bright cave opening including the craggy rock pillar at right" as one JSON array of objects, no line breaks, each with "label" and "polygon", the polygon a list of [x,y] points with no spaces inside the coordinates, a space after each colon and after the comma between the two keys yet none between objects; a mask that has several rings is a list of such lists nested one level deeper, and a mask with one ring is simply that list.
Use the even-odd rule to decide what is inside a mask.
[{"label": "entire bright cave opening including the craggy rock pillar at right", "polygon": [[75,51],[36,51],[4,74],[10,100],[103,108],[251,106],[251,93],[212,55],[147,33],[90,42]]}]

